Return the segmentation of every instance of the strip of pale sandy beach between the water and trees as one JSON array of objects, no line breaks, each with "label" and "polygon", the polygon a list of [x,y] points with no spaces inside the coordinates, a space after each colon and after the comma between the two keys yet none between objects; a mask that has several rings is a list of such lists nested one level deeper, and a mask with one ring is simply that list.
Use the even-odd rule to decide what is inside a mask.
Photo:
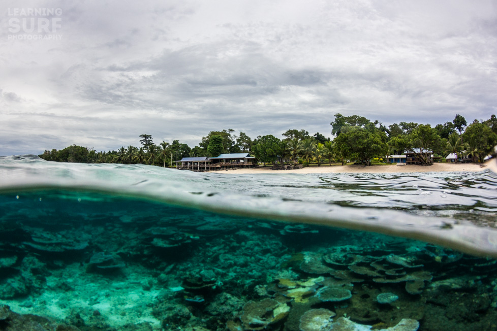
[{"label": "strip of pale sandy beach between the water and trees", "polygon": [[258,167],[252,169],[235,169],[212,171],[222,174],[324,174],[324,173],[426,173],[426,172],[459,172],[459,171],[483,171],[489,167],[480,167],[480,163],[434,163],[432,166],[414,166],[412,164],[405,166],[387,165],[387,166],[369,166],[339,164],[329,166],[321,164],[320,167],[315,165],[295,170],[271,170],[269,167]]}]

